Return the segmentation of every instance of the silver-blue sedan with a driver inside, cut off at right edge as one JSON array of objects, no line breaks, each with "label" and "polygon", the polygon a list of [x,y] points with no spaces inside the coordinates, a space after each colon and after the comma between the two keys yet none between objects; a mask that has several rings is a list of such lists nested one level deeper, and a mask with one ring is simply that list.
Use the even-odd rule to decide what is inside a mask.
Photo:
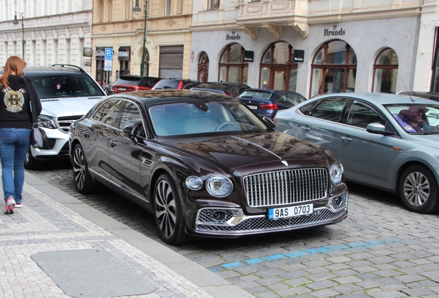
[{"label": "silver-blue sedan with a driver inside, cut off at right edge", "polygon": [[439,104],[384,93],[322,95],[277,112],[277,130],[331,150],[347,181],[439,210]]}]

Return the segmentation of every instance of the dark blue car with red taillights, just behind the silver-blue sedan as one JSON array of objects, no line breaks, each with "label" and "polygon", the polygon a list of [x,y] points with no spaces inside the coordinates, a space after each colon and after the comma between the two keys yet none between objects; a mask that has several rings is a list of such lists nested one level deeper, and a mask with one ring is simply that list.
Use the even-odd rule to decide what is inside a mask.
[{"label": "dark blue car with red taillights, just behind the silver-blue sedan", "polygon": [[306,101],[306,98],[297,92],[284,90],[267,90],[251,88],[237,97],[248,108],[251,108],[261,117],[274,119],[278,110],[291,108]]}]

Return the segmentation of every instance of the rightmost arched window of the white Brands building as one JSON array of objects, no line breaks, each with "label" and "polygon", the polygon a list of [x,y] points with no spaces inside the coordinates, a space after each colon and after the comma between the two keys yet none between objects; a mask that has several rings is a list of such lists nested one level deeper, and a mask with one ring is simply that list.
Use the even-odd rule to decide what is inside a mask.
[{"label": "rightmost arched window of the white Brands building", "polygon": [[396,93],[398,57],[391,48],[382,50],[373,64],[372,92]]}]

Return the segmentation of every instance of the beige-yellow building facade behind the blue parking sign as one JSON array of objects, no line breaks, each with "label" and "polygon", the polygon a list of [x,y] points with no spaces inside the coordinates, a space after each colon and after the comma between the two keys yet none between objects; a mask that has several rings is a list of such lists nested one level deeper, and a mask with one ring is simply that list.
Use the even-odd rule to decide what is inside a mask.
[{"label": "beige-yellow building facade behind the blue parking sign", "polygon": [[[192,1],[186,0],[94,0],[95,79],[113,83],[124,74],[187,78],[191,16]],[[112,59],[105,49],[113,50]]]}]

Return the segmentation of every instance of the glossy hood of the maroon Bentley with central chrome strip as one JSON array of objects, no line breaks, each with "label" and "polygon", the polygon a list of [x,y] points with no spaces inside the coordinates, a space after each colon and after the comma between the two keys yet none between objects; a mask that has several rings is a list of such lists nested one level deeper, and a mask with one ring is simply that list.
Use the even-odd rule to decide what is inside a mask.
[{"label": "glossy hood of the maroon Bentley with central chrome strip", "polygon": [[[235,169],[265,164],[267,170],[286,166],[328,166],[328,151],[282,132],[257,135],[198,137],[187,141],[162,140],[188,155]],[[334,159],[335,160],[335,159]],[[283,166],[282,166],[283,164]]]}]

